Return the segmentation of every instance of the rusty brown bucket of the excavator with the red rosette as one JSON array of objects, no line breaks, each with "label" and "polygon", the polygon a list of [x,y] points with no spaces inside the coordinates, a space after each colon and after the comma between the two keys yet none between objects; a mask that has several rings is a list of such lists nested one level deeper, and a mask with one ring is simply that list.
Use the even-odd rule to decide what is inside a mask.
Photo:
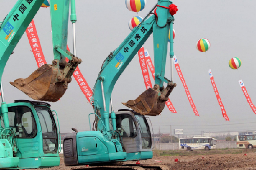
[{"label": "rusty brown bucket of the excavator with the red rosette", "polygon": [[159,100],[158,94],[157,90],[148,88],[136,100],[130,100],[122,104],[142,115],[157,116],[163,111],[166,102]]}]

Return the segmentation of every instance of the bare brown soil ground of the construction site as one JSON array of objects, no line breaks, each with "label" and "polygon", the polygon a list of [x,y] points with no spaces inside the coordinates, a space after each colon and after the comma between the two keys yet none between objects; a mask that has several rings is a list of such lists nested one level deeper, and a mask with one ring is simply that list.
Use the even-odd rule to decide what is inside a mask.
[{"label": "bare brown soil ground of the construction site", "polygon": [[[231,151],[231,152],[230,152]],[[170,151],[173,152],[173,151]],[[168,152],[154,153],[154,155],[164,155]],[[177,151],[178,153],[178,151]],[[186,156],[153,156],[152,159],[141,160],[141,164],[166,165],[169,169],[256,169],[256,149],[233,149],[222,151],[180,151]],[[184,154],[182,154],[184,153]],[[230,154],[231,153],[231,154]],[[187,155],[188,154],[188,155]],[[176,161],[175,161],[176,159]],[[178,161],[177,161],[178,159]],[[136,164],[136,161],[125,162],[124,164]],[[60,165],[58,167],[43,169],[78,169],[89,168],[83,166],[65,166],[63,155],[60,155]]]}]

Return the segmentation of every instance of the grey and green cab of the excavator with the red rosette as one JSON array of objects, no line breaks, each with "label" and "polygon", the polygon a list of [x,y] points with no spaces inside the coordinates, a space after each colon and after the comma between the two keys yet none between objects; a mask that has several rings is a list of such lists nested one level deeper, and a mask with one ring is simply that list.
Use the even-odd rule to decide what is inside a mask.
[{"label": "grey and green cab of the excavator with the red rosette", "polygon": [[125,161],[152,158],[152,136],[144,115],[129,109],[119,109],[116,112],[116,125],[126,152]]}]

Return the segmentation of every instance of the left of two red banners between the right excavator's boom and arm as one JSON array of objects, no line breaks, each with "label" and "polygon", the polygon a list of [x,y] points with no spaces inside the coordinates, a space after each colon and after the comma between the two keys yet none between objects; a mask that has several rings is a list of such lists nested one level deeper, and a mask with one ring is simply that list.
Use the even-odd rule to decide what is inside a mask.
[{"label": "left of two red banners between the right excavator's boom and arm", "polygon": [[144,79],[146,89],[148,89],[150,87],[152,88],[152,83],[151,83],[151,80],[150,80],[150,74],[148,73],[148,70],[147,70],[147,65],[146,65],[144,53],[145,53],[144,52],[144,47],[142,46],[140,48],[140,50],[138,51],[138,54],[139,54],[139,61],[140,61],[140,68],[141,68],[141,71],[142,71],[142,76],[143,76],[143,79]]}]

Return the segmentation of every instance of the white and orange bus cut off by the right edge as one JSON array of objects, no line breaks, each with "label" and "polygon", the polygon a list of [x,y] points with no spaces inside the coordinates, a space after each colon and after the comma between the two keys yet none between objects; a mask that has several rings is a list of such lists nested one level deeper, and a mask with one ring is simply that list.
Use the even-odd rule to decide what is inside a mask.
[{"label": "white and orange bus cut off by the right edge", "polygon": [[237,135],[237,148],[256,148],[256,134]]}]

